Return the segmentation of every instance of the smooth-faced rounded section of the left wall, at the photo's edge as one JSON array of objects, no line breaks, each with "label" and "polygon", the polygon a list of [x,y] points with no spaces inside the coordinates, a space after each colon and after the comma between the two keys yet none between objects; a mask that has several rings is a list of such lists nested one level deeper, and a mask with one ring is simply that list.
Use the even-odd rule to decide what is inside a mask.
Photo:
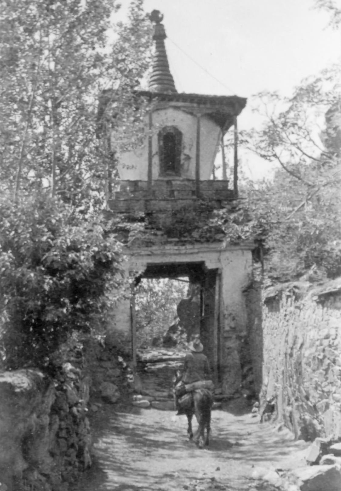
[{"label": "smooth-faced rounded section of the left wall, at the photo's edge", "polygon": [[11,491],[13,479],[21,479],[29,465],[50,464],[49,412],[54,399],[53,384],[39,370],[0,374],[0,475],[1,484]]}]

